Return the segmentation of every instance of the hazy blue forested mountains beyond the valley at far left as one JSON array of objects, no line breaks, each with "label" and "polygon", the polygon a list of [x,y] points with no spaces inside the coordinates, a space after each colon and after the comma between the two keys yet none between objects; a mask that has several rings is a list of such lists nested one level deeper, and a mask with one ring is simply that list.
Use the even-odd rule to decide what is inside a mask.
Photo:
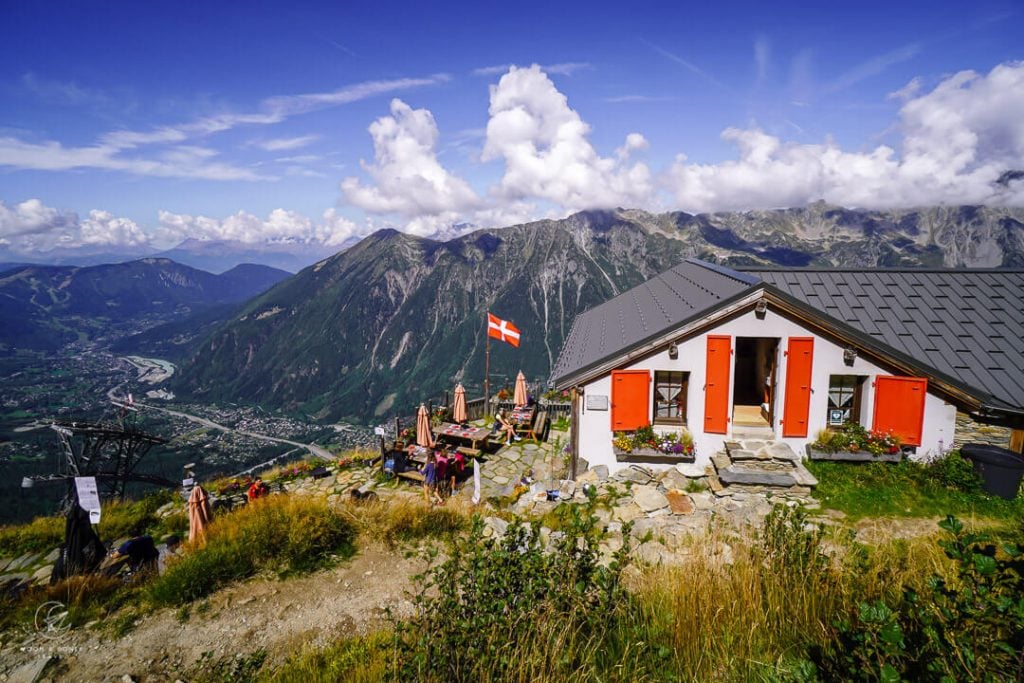
[{"label": "hazy blue forested mountains beyond the valley at far left", "polygon": [[[240,265],[215,275],[168,259],[0,271],[0,353],[53,351],[251,299],[290,273]],[[223,315],[227,310],[223,310]]]}]

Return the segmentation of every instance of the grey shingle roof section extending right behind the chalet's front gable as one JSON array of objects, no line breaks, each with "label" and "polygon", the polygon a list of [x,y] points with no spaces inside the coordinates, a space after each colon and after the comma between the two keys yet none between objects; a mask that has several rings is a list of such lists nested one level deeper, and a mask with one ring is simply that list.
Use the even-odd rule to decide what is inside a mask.
[{"label": "grey shingle roof section extending right behind the chalet's front gable", "polygon": [[1024,408],[1024,271],[744,269],[919,362]]}]

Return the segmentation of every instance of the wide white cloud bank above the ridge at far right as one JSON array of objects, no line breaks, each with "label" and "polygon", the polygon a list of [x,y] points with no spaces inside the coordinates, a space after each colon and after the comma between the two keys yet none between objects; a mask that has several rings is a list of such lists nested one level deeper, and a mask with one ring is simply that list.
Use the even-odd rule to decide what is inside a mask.
[{"label": "wide white cloud bank above the ridge at far right", "polygon": [[863,208],[939,204],[1024,205],[1024,63],[965,71],[900,109],[900,150],[846,152],[835,142],[784,142],[759,129],[726,129],[739,156],[720,164],[677,158],[668,184],[679,208],[723,211],[815,200]]}]

